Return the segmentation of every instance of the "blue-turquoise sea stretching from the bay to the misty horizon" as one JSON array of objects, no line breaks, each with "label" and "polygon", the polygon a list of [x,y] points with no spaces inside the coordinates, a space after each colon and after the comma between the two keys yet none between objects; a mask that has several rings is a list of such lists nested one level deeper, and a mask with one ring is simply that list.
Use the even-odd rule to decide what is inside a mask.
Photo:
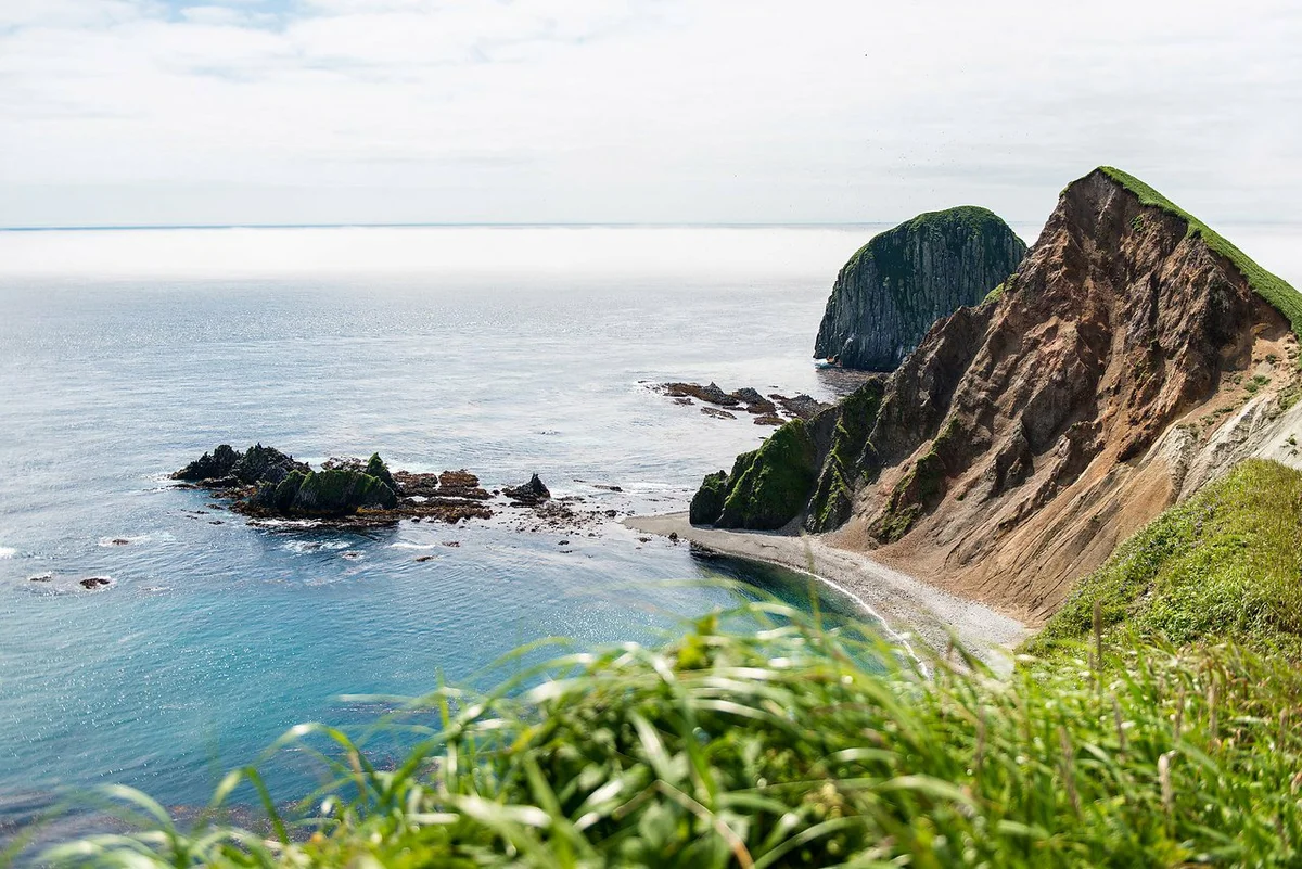
[{"label": "blue-turquoise sea stretching from the bay to the misty horizon", "polygon": [[[297,723],[495,684],[547,637],[533,654],[656,643],[768,596],[871,622],[618,519],[685,510],[772,431],[651,385],[849,388],[812,342],[879,229],[0,232],[0,830],[107,783],[202,805]],[[1224,232],[1302,285],[1302,229]],[[493,489],[538,474],[602,520],[267,528],[167,479],[255,442]],[[301,765],[262,762],[294,796]]]}]

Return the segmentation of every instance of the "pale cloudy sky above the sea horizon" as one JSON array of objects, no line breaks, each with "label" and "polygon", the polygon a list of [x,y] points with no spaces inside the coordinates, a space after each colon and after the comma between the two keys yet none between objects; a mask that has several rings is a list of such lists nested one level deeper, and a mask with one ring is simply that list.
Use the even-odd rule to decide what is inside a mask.
[{"label": "pale cloudy sky above the sea horizon", "polygon": [[1302,224],[1297,0],[0,0],[0,226]]}]

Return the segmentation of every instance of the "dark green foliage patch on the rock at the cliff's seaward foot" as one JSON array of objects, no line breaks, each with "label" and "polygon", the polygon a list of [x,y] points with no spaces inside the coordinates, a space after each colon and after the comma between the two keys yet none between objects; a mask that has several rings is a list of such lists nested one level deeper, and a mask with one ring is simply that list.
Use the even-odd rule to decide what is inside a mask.
[{"label": "dark green foliage patch on the rock at the cliff's seaward foot", "polygon": [[805,509],[814,490],[816,450],[809,428],[794,419],[758,450],[737,457],[728,476],[721,528],[781,528]]}]

